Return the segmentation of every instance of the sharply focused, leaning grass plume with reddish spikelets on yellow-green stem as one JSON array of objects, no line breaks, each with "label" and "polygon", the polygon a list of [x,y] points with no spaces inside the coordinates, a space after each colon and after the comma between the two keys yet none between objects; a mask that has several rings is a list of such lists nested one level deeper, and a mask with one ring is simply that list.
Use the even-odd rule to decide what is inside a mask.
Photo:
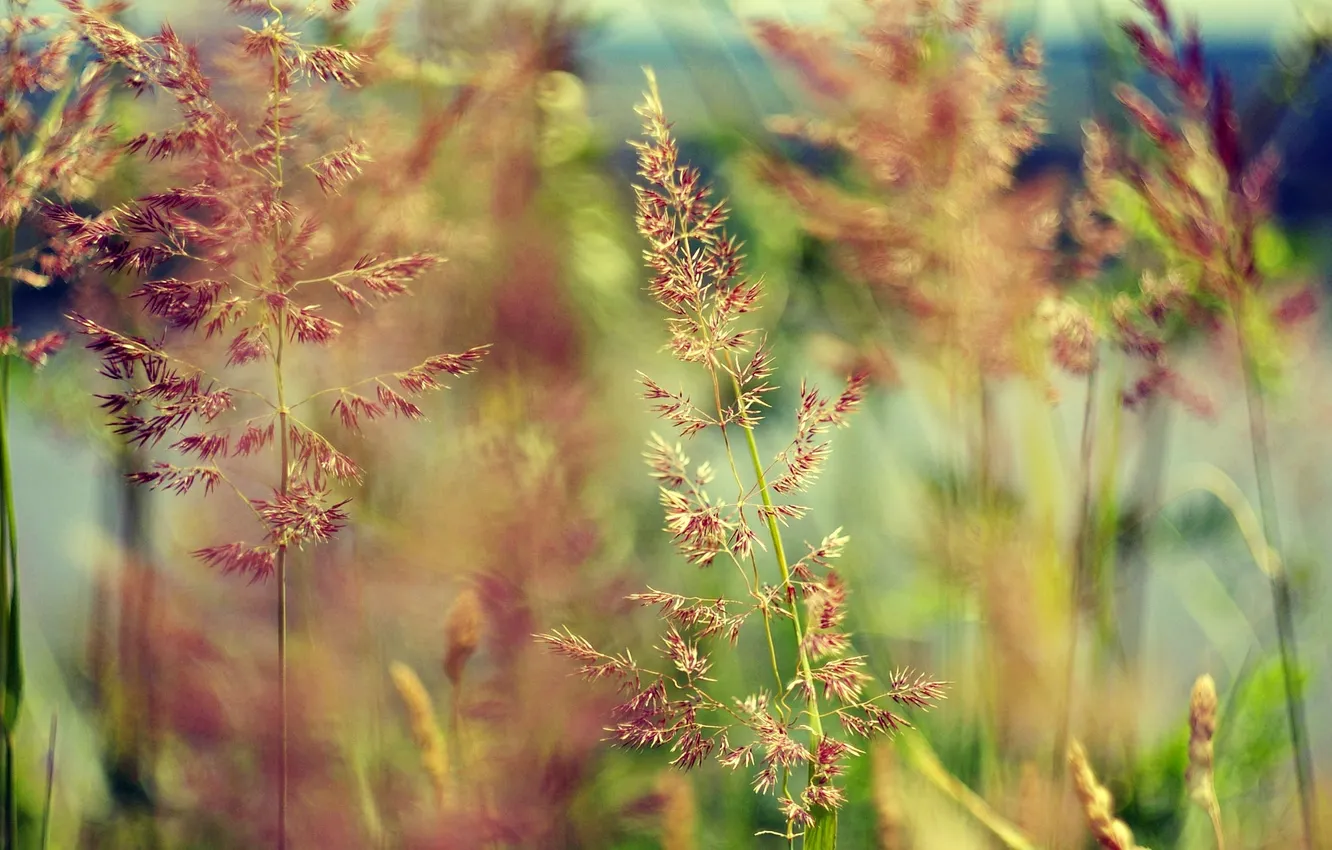
[{"label": "sharply focused, leaning grass plume with reddish spikelets on yellow-green stem", "polygon": [[[846,759],[862,751],[850,739],[890,735],[908,726],[900,707],[930,709],[944,697],[944,683],[899,670],[874,687],[864,657],[850,654],[851,638],[842,628],[846,585],[834,569],[847,542],[840,529],[809,545],[805,557],[787,560],[781,529],[806,509],[779,500],[803,492],[818,476],[829,454],[825,436],[847,422],[864,396],[866,380],[852,374],[840,393],[827,397],[802,384],[795,436],[771,462],[763,461],[754,428],[774,389],[769,382],[774,364],[761,333],[742,324],[757,309],[763,284],[745,274],[741,244],[725,230],[725,201],[713,200],[697,168],[679,163],[657,80],[651,71],[646,73],[647,92],[638,107],[645,140],[630,144],[646,183],[634,191],[638,230],[649,245],[643,256],[653,274],[647,289],[667,313],[667,350],[706,370],[710,392],[695,401],[641,376],[643,396],[682,437],[718,436],[731,480],[726,486],[734,484],[737,496],[714,496],[707,488],[717,470],[709,464],[691,466],[678,442],[654,436],[645,457],[659,485],[666,532],[679,554],[699,568],[714,562],[734,568],[747,597],[709,600],[657,589],[631,596],[642,605],[659,606],[667,625],[657,649],[663,663],[655,670],[627,651],[602,653],[567,629],[537,637],[578,661],[585,678],[621,685],[627,699],[615,709],[609,729],[617,743],[670,747],[671,765],[681,769],[709,758],[725,767],[755,767],[754,791],[774,794],[786,818],[786,830],[777,834],[789,842],[803,835],[806,847],[834,847],[836,810],[846,801],[835,779],[843,775]],[[742,474],[742,466],[750,472]],[[759,549],[767,548],[761,533],[777,568],[766,580],[758,558]],[[778,620],[790,624],[787,638],[778,637]],[[719,698],[709,678],[709,653],[734,646],[747,622],[763,630],[773,690]],[[726,643],[713,642],[722,636]],[[785,670],[779,639],[790,641],[794,655]],[[831,718],[848,739],[825,727]],[[793,783],[799,773],[807,777],[803,789]]]}]

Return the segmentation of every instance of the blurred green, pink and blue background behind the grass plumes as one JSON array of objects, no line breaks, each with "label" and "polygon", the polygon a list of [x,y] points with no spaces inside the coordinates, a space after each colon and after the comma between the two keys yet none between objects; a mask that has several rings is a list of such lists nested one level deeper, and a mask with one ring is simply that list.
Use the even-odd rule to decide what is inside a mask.
[{"label": "blurred green, pink and blue background behind the grass plumes", "polygon": [[[851,541],[839,569],[858,650],[878,675],[908,665],[951,686],[947,701],[915,718],[923,735],[911,741],[924,749],[882,745],[854,759],[842,846],[1020,846],[998,821],[1030,837],[1026,846],[1091,846],[1071,787],[1051,775],[1060,723],[1094,747],[1142,845],[1212,846],[1184,781],[1189,689],[1204,673],[1221,698],[1216,793],[1229,846],[1297,846],[1272,594],[1235,518],[1236,505],[1256,509],[1257,490],[1233,353],[1207,341],[1180,346],[1173,366],[1205,401],[1193,409],[1164,396],[1122,405],[1136,374],[1126,357],[1107,358],[1090,402],[1086,378],[1044,361],[982,373],[978,401],[947,348],[914,334],[910,317],[879,326],[827,240],[765,177],[774,151],[815,173],[838,164],[770,132],[773,116],[818,104],[753,32],[775,19],[847,33],[860,5],[393,5],[392,47],[354,104],[333,104],[373,161],[340,197],[321,201],[324,244],[436,250],[449,262],[410,298],[349,324],[337,349],[302,361],[302,381],[338,385],[366,364],[485,342],[493,350],[477,374],[429,401],[428,422],[376,422],[349,441],[366,469],[364,486],[348,493],[352,524],[293,568],[290,846],[785,843],[755,837],[783,819],[743,771],[709,763],[682,774],[661,753],[605,743],[614,689],[581,682],[531,638],[567,625],[607,650],[650,654],[661,624],[626,594],[645,585],[743,593],[733,574],[698,570],[673,550],[641,460],[649,434],[666,436],[670,425],[653,418],[638,373],[667,386],[699,380],[662,352],[666,330],[634,230],[626,140],[639,132],[633,108],[645,65],[661,81],[683,159],[730,199],[749,269],[766,281],[758,321],[782,389],[758,430],[765,450],[789,440],[802,377],[831,392],[848,366],[876,369],[789,540],[802,549],[799,541],[840,526]],[[1114,84],[1142,79],[1118,31],[1134,7],[988,8],[1014,43],[1030,35],[1044,44],[1048,133],[1016,164],[1006,197],[1047,204],[1079,187],[1082,123],[1118,120]],[[1264,268],[1325,293],[1332,7],[1181,0],[1171,9],[1200,21],[1209,60],[1233,79],[1245,144],[1281,153]],[[362,3],[345,25],[373,28],[386,11]],[[221,3],[139,3],[124,19],[139,32],[168,19],[205,52],[237,24]],[[111,109],[128,139],[169,105],[117,95]],[[131,160],[93,203],[153,191],[153,176]],[[972,293],[982,312],[1003,301],[1000,284]],[[121,302],[127,286],[23,288],[16,324],[36,334],[63,328],[69,309],[97,305],[127,326],[139,321],[136,305]],[[1036,305],[1020,309],[1035,314]],[[1309,325],[1283,349],[1268,416],[1325,803],[1332,350],[1323,314]],[[210,501],[123,481],[155,456],[108,433],[93,398],[107,392],[96,368],[71,345],[16,378],[24,817],[40,817],[56,715],[52,847],[269,846],[273,585],[189,557],[225,538]],[[1098,422],[1090,454],[1087,409]],[[689,452],[725,462],[710,440]],[[984,498],[967,496],[978,486]],[[1102,556],[1066,702],[1070,550],[1084,490]],[[763,653],[751,637],[718,653],[719,693],[758,686]],[[448,750],[442,791],[413,739],[420,718],[390,673],[401,674],[396,663],[433,701]]]}]

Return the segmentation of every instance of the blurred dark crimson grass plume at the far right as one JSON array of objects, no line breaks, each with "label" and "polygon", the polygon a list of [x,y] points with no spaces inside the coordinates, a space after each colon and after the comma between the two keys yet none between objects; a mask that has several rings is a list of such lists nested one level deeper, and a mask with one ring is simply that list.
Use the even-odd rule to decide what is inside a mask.
[{"label": "blurred dark crimson grass plume at the far right", "polygon": [[[1115,88],[1130,125],[1155,148],[1148,155],[1111,139],[1100,125],[1087,125],[1088,192],[1075,207],[1080,212],[1074,237],[1090,248],[1086,260],[1095,262],[1108,256],[1099,248],[1123,246],[1128,233],[1116,236],[1116,229],[1142,236],[1146,222],[1152,232],[1146,241],[1162,268],[1144,269],[1136,290],[1118,293],[1104,305],[1102,336],[1146,364],[1124,393],[1126,404],[1166,393],[1195,413],[1211,414],[1209,400],[1171,366],[1171,344],[1219,330],[1220,318],[1236,328],[1261,328],[1268,332],[1264,338],[1276,340],[1283,337],[1277,330],[1289,330],[1315,312],[1316,298],[1304,285],[1279,286],[1260,268],[1257,245],[1272,216],[1279,176],[1276,151],[1243,149],[1231,83],[1220,71],[1208,72],[1196,21],[1176,27],[1160,0],[1139,5],[1147,19],[1127,20],[1122,31],[1139,64],[1160,83],[1168,105],[1128,84]],[[1083,226],[1088,203],[1099,214],[1111,208],[1107,175],[1143,211],[1143,221]],[[1118,207],[1123,218],[1123,197]],[[1271,373],[1271,364],[1284,354],[1272,341],[1268,348],[1261,356]]]}]

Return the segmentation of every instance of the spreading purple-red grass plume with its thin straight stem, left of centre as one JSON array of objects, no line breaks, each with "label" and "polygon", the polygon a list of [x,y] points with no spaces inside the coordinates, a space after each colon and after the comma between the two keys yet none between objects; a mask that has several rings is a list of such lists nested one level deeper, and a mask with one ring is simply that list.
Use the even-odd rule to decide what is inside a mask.
[{"label": "spreading purple-red grass plume with its thin straight stem, left of centre", "polygon": [[[328,232],[318,214],[325,196],[353,180],[368,153],[354,139],[332,153],[308,141],[317,139],[309,132],[317,116],[298,84],[354,89],[373,48],[306,44],[293,25],[302,16],[304,23],[338,17],[349,4],[298,12],[272,1],[232,3],[246,23],[261,15],[262,25],[236,28],[221,56],[230,83],[224,88],[212,84],[198,48],[170,24],[141,37],[112,15],[115,8],[61,3],[101,61],[125,71],[131,91],[164,95],[180,117],[174,127],[128,144],[131,153],[164,160],[170,183],[101,214],[49,207],[47,218],[88,270],[145,278],[132,297],[163,328],[151,341],[91,317],[69,317],[101,356],[103,374],[121,384],[121,392],[99,396],[112,429],[145,449],[166,441],[178,456],[177,462],[155,461],[129,480],[178,494],[234,497],[250,529],[242,540],[204,546],[194,557],[250,582],[276,577],[277,847],[284,850],[288,566],[296,550],[326,542],[346,524],[350,498],[341,490],[362,478],[361,466],[308,424],[308,410],[329,405],[329,417],[349,434],[360,433],[362,421],[424,418],[416,400],[445,389],[450,376],[473,372],[488,346],[434,354],[304,398],[296,394],[292,360],[298,349],[332,346],[344,332],[324,302],[337,308],[341,300],[357,309],[388,301],[440,262],[429,253],[365,250],[333,265],[316,248],[316,237]],[[181,340],[189,336],[193,345]],[[214,337],[225,348],[213,344],[209,352]],[[196,360],[200,353],[210,358]],[[268,369],[256,370],[256,364]],[[253,468],[261,461],[269,473],[256,478]]]}]

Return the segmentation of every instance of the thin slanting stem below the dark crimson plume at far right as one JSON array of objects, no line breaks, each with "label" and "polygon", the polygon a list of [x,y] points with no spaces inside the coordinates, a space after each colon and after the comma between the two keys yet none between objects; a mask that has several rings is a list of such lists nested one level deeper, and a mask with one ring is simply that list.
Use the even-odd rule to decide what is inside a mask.
[{"label": "thin slanting stem below the dark crimson plume at far right", "polygon": [[1263,388],[1259,385],[1253,361],[1249,357],[1244,333],[1244,305],[1240,298],[1233,302],[1235,336],[1244,369],[1244,396],[1248,404],[1249,445],[1253,453],[1253,473],[1257,478],[1259,512],[1263,517],[1263,537],[1267,548],[1263,552],[1267,574],[1272,586],[1272,609],[1276,614],[1276,637],[1281,654],[1281,673],[1285,679],[1285,713],[1291,725],[1291,757],[1295,762],[1295,779],[1300,789],[1300,819],[1304,826],[1304,846],[1316,847],[1317,841],[1317,797],[1313,779],[1313,757],[1309,749],[1309,733],[1304,715],[1304,695],[1300,693],[1299,651],[1295,638],[1295,602],[1291,596],[1291,582],[1281,561],[1281,526],[1276,512],[1276,494],[1272,485],[1272,461],[1268,456],[1267,413],[1263,406]]}]

